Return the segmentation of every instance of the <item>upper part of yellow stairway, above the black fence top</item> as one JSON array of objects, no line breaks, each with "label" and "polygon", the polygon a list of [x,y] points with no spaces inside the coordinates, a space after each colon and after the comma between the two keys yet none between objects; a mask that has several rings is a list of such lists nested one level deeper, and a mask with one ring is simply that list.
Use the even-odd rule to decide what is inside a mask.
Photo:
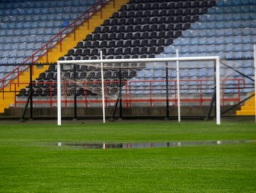
[{"label": "upper part of yellow stairway, above the black fence top", "polygon": [[[100,26],[105,19],[108,19],[111,17],[113,12],[116,12],[117,10],[120,9],[122,5],[127,3],[129,0],[118,0],[115,2],[115,8],[113,8],[113,1],[110,1],[107,6],[104,6],[102,8],[102,18],[100,17],[100,11],[95,12],[91,19],[89,21],[85,21],[82,26],[77,28],[75,31],[75,40],[74,40],[74,33],[71,33],[64,39],[62,42],[62,51],[60,51],[60,43],[57,43],[56,48],[50,50],[48,52],[48,61],[46,57],[42,57],[42,59],[39,59],[39,63],[44,63],[44,62],[56,62],[60,57],[65,55],[68,50],[71,48],[75,47],[79,41],[82,41],[84,37],[86,37],[87,34],[93,32],[93,30]],[[89,29],[88,29],[88,22],[89,22]]]}]

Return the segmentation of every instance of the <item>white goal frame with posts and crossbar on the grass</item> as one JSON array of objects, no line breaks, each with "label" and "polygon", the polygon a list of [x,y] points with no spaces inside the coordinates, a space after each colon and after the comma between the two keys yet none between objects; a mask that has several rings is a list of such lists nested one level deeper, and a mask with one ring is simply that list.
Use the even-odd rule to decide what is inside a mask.
[{"label": "white goal frame with posts and crossbar on the grass", "polygon": [[[177,69],[177,85],[179,85],[179,61],[214,61],[215,62],[215,77],[216,77],[216,124],[221,124],[221,92],[220,92],[220,59],[215,57],[174,57],[174,58],[153,58],[153,59],[98,59],[98,60],[74,60],[74,61],[57,61],[57,125],[62,125],[62,108],[61,108],[61,68],[60,65],[68,63],[125,63],[125,62],[169,62],[176,61]],[[103,85],[102,85],[103,86]],[[178,112],[180,111],[180,92],[178,90]],[[102,100],[104,96],[102,97]],[[104,105],[103,105],[104,108]],[[180,114],[178,115],[180,120]],[[104,115],[103,115],[104,120]]]}]

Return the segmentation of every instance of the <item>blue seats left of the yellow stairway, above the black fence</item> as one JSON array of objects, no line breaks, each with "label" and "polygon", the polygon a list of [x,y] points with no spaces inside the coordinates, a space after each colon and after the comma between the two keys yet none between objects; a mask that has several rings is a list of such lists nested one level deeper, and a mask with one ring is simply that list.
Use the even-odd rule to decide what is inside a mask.
[{"label": "blue seats left of the yellow stairway, above the black fence", "polygon": [[0,63],[24,61],[60,32],[66,22],[77,19],[94,2],[0,2],[0,52],[3,52]]}]

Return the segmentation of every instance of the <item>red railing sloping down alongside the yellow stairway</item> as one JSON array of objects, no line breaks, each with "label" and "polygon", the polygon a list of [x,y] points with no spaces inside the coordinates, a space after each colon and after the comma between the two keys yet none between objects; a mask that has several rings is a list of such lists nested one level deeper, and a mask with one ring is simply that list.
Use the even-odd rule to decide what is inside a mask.
[{"label": "red railing sloping down alongside the yellow stairway", "polygon": [[[91,6],[91,8],[89,8],[88,10],[86,10],[86,12],[84,12],[83,14],[80,15],[80,17],[78,17],[77,19],[75,19],[75,21],[73,21],[72,23],[70,23],[66,28],[64,28],[61,32],[59,32],[58,34],[56,34],[50,41],[48,41],[46,44],[44,44],[41,48],[39,48],[39,50],[37,50],[34,54],[32,54],[30,57],[28,57],[28,59],[26,59],[23,64],[25,63],[35,63],[37,62],[39,59],[41,59],[42,57],[46,56],[46,62],[48,62],[48,52],[53,49],[55,47],[55,45],[57,45],[57,43],[60,43],[60,51],[62,51],[62,41],[71,33],[74,32],[74,40],[75,40],[75,30],[77,30],[78,27],[82,26],[82,24],[87,21],[87,28],[90,28],[89,25],[89,19],[93,16],[93,14],[95,14],[95,12],[100,11],[100,17],[102,18],[102,8],[104,8],[104,6],[107,5],[107,3],[109,3],[110,1],[113,1],[113,8],[115,8],[115,1],[116,0],[100,0],[96,3],[93,4],[93,6]],[[71,30],[70,30],[71,29]],[[39,55],[38,55],[39,54]],[[38,56],[37,56],[38,55]],[[0,91],[3,91],[3,99],[4,99],[4,90],[5,87],[10,85],[10,83],[12,83],[12,81],[15,81],[17,79],[17,82],[19,83],[19,75],[22,74],[23,72],[25,72],[26,70],[28,70],[29,66],[26,66],[24,69],[21,69],[21,67],[24,65],[19,65],[17,68],[15,68],[14,70],[12,70],[12,72],[8,73],[6,75],[6,77],[3,77],[3,79],[0,80],[0,85],[2,86],[0,88]],[[34,68],[34,66],[33,66]],[[17,75],[15,75],[14,78],[10,79],[10,81],[8,81],[8,83],[5,84],[5,81],[8,80],[8,78],[14,74],[17,73]]]}]

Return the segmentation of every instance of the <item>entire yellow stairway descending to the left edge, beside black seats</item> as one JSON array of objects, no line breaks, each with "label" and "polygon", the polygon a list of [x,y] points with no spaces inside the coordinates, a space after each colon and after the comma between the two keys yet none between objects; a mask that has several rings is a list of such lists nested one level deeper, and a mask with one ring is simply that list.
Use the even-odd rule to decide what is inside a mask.
[{"label": "entire yellow stairway descending to the left edge, beside black seats", "polygon": [[[102,8],[102,18],[100,16],[100,11],[95,12],[93,16],[89,19],[89,21],[85,21],[82,26],[77,28],[75,31],[75,41],[74,41],[74,33],[69,34],[66,39],[62,42],[62,52],[60,52],[60,43],[57,44],[56,48],[53,48],[48,52],[48,61],[46,57],[42,57],[39,59],[38,63],[45,63],[45,62],[56,62],[62,55],[66,54],[68,50],[73,48],[77,42],[81,41],[86,37],[87,34],[93,32],[93,30],[100,26],[105,19],[111,17],[113,12],[116,12],[120,9],[120,7],[127,3],[129,0],[118,0],[115,1],[115,6],[113,6],[113,1],[110,1],[104,8]],[[113,8],[115,7],[115,8]],[[88,22],[89,22],[89,29],[88,29]],[[44,65],[44,67],[39,66],[35,67],[33,70],[33,80],[37,79],[39,77],[39,74],[42,72],[45,72],[48,70],[48,66]],[[12,83],[17,83],[17,80],[12,81]],[[29,82],[29,72],[23,72],[19,75],[19,82],[20,83],[28,83]],[[19,90],[22,88],[25,88],[26,85],[20,85]],[[10,91],[15,91],[15,86],[12,84],[12,86],[7,86],[5,88],[6,92],[4,95],[0,94],[0,113],[4,112],[5,108],[9,108],[10,106],[13,106],[15,103],[15,94]]]}]

